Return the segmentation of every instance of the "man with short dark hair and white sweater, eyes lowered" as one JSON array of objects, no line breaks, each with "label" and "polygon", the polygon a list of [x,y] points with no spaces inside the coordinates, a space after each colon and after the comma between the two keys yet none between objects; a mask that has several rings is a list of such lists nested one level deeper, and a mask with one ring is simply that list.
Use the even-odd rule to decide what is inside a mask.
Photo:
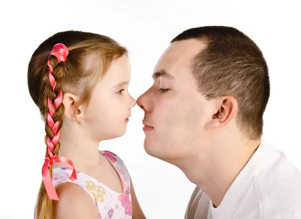
[{"label": "man with short dark hair and white sweater, eyes lowered", "polygon": [[301,173],[261,140],[268,68],[235,28],[172,40],[137,104],[144,149],[195,183],[185,218],[301,218]]}]

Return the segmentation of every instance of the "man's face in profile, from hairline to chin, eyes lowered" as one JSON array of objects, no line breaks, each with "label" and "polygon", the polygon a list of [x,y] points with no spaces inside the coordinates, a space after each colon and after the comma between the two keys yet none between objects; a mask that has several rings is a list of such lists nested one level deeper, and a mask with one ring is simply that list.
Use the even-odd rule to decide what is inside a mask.
[{"label": "man's face in profile, from hairline to chin, eyes lowered", "polygon": [[200,150],[211,109],[198,92],[191,63],[204,48],[194,39],[172,43],[155,67],[154,85],[137,99],[147,154],[169,162]]}]

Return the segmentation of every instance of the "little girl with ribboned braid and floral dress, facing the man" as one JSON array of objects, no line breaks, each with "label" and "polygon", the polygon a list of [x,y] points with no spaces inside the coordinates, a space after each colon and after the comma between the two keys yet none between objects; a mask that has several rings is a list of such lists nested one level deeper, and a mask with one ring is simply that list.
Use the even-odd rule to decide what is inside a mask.
[{"label": "little girl with ribboned braid and floral dress, facing the man", "polygon": [[93,33],[57,33],[34,52],[28,86],[47,146],[35,218],[145,218],[122,160],[98,151],[125,133],[130,71],[127,50]]}]

